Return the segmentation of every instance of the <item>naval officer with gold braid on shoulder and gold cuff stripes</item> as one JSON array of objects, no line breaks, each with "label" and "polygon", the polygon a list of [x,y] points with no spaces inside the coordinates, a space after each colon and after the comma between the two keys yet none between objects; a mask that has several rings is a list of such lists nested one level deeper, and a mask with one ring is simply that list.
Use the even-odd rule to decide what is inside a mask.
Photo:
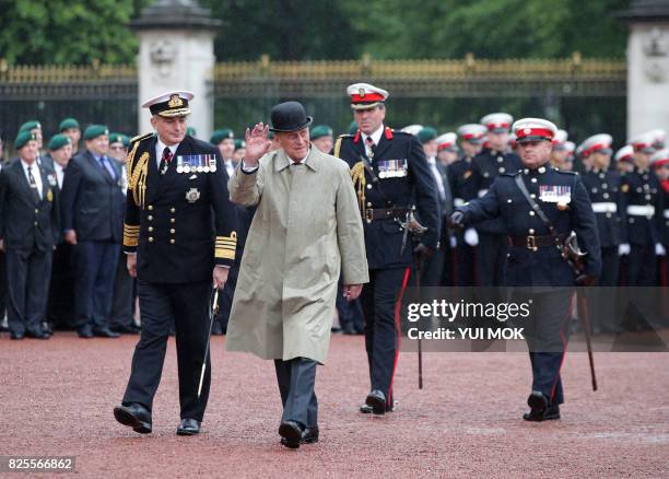
[{"label": "naval officer with gold braid on shoulder and gold cuff stripes", "polygon": [[157,135],[134,138],[128,154],[124,250],[138,279],[140,341],[116,420],[139,433],[152,430],[169,327],[176,329],[181,421],[179,435],[200,431],[211,367],[198,385],[209,332],[212,281],[222,289],[235,259],[235,210],[215,147],[186,135],[190,92],[171,92],[142,106]]}]

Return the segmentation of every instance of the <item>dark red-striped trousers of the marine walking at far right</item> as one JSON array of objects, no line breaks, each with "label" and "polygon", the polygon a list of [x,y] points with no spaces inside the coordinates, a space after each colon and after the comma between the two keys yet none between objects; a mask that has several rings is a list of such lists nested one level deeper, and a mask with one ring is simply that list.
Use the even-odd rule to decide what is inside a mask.
[{"label": "dark red-striped trousers of the marine walking at far right", "polygon": [[532,366],[532,390],[543,393],[551,405],[561,405],[564,394],[560,369],[570,339],[574,290],[561,288],[531,297],[531,317],[524,324]]}]

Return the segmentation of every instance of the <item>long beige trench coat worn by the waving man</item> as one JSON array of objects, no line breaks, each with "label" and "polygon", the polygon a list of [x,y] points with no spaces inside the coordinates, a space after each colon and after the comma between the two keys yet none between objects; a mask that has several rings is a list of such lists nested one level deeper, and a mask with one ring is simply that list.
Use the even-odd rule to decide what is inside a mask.
[{"label": "long beige trench coat worn by the waving man", "polygon": [[255,174],[237,166],[227,188],[238,205],[258,205],[227,325],[225,349],[262,359],[325,363],[337,282],[369,281],[362,220],[348,165],[312,145],[306,164],[283,150]]}]

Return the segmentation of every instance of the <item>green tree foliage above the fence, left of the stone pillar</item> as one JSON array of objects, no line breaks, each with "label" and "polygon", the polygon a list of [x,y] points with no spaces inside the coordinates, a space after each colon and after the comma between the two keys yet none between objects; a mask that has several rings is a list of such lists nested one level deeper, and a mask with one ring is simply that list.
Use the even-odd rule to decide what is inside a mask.
[{"label": "green tree foliage above the fence, left of the stone pillar", "polygon": [[0,57],[10,63],[131,62],[128,27],[151,0],[0,0]]}]

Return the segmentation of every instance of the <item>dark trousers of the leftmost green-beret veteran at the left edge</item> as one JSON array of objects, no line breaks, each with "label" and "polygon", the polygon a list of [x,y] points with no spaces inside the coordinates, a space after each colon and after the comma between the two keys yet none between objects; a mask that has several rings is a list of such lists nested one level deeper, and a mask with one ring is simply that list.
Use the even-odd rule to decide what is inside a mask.
[{"label": "dark trousers of the leftmost green-beret veteran at the left edge", "polygon": [[7,318],[14,334],[38,334],[46,317],[51,252],[7,250],[9,301]]}]

